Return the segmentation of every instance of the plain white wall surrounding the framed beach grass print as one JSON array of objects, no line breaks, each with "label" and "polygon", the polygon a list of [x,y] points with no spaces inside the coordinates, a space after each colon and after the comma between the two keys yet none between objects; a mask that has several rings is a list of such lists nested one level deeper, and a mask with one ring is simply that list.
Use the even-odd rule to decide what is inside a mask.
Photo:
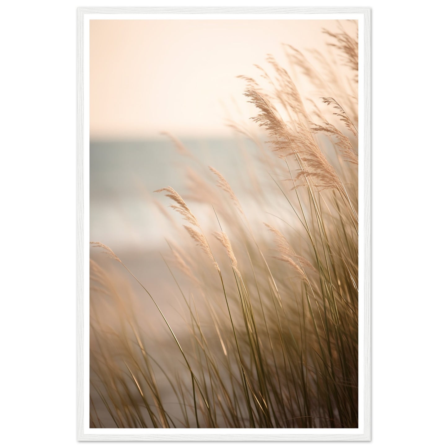
[{"label": "plain white wall surrounding the framed beach grass print", "polygon": [[[76,7],[125,3],[2,5],[4,446],[77,443]],[[339,3],[354,4],[372,7],[372,443],[441,446],[447,416],[447,8],[433,1],[418,9],[405,2]],[[353,447],[338,446],[345,445]]]}]

